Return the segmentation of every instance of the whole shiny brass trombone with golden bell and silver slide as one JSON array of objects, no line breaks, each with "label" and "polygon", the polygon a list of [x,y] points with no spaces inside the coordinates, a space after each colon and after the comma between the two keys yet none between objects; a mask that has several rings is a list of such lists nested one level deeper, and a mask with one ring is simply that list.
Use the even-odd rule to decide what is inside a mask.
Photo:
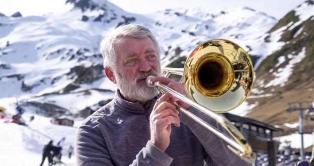
[{"label": "whole shiny brass trombone with golden bell and silver slide", "polygon": [[251,59],[243,48],[224,39],[209,40],[192,51],[184,68],[168,67],[163,69],[163,74],[166,77],[170,74],[182,75],[181,82],[191,100],[160,81],[152,82],[152,76],[146,78],[147,86],[156,87],[162,93],[170,93],[216,120],[233,139],[174,103],[178,111],[227,142],[228,148],[243,160],[249,163],[255,161],[256,155],[241,132],[225,117],[216,114],[240,106],[250,94],[254,70]]}]

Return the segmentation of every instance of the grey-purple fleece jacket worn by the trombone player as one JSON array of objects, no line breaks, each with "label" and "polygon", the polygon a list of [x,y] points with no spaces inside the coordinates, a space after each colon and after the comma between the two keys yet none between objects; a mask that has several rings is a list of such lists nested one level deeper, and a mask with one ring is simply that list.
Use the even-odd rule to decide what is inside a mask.
[{"label": "grey-purple fleece jacket worn by the trombone player", "polygon": [[[252,165],[231,152],[224,141],[181,114],[181,126],[172,125],[170,145],[162,152],[149,140],[149,115],[156,100],[143,106],[125,101],[116,93],[110,103],[77,129],[77,165]],[[204,120],[225,132],[211,118]]]}]

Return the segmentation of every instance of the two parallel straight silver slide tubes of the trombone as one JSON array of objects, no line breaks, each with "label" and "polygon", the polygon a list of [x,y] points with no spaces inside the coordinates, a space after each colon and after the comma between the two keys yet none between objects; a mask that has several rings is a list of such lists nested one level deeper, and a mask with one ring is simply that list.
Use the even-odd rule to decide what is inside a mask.
[{"label": "two parallel straight silver slide tubes of the trombone", "polygon": [[[221,117],[217,114],[215,114],[214,112],[206,109],[205,107],[189,100],[188,98],[186,98],[185,96],[183,96],[182,94],[174,91],[173,89],[163,85],[160,81],[155,81],[153,83],[154,87],[157,87],[165,92],[170,93],[171,95],[177,97],[178,99],[180,99],[181,101],[184,101],[185,103],[191,105],[192,107],[196,108],[197,110],[201,111],[202,113],[210,116],[211,118],[215,119],[216,121],[218,121],[218,119],[221,119]],[[185,115],[187,115],[188,117],[192,118],[193,120],[195,120],[198,124],[202,125],[203,127],[205,127],[206,129],[208,129],[209,131],[211,131],[212,133],[214,133],[215,135],[217,135],[219,138],[221,138],[222,140],[224,140],[225,142],[229,143],[231,146],[233,146],[234,148],[238,149],[239,151],[241,151],[242,153],[245,153],[245,149],[239,145],[236,141],[230,139],[229,137],[227,137],[225,134],[223,134],[221,131],[217,130],[216,128],[212,127],[210,124],[208,124],[207,122],[205,122],[204,120],[202,120],[201,118],[197,117],[196,115],[194,115],[193,113],[189,112],[188,110],[176,105],[177,107],[179,107],[179,110],[184,113]]]}]

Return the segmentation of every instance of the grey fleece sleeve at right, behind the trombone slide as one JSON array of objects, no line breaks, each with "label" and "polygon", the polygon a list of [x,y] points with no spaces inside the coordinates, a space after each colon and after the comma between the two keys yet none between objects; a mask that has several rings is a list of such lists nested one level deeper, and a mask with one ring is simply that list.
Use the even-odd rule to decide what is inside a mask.
[{"label": "grey fleece sleeve at right, behind the trombone slide", "polygon": [[[204,113],[196,111],[195,109],[189,109],[193,114],[198,117],[202,117],[204,121],[227,134],[227,131],[218,124],[212,118],[205,116]],[[187,125],[195,136],[199,139],[204,147],[204,159],[208,165],[252,165],[244,160],[242,160],[238,155],[234,154],[228,147],[227,143],[212,134],[210,131],[196,123],[194,120],[188,118],[186,115],[182,114],[181,122]]]}]

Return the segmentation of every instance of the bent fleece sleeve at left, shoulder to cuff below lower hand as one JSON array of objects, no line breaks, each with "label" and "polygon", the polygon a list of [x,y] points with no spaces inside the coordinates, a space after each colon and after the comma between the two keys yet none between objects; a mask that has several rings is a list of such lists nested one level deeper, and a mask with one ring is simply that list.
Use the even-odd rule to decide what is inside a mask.
[{"label": "bent fleece sleeve at left, shoulder to cuff below lower hand", "polygon": [[[76,131],[75,156],[77,165],[115,165],[104,136],[93,122],[87,122]],[[170,165],[173,158],[147,142],[130,165]]]}]

